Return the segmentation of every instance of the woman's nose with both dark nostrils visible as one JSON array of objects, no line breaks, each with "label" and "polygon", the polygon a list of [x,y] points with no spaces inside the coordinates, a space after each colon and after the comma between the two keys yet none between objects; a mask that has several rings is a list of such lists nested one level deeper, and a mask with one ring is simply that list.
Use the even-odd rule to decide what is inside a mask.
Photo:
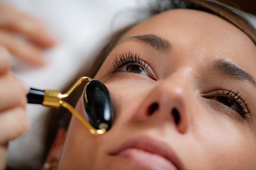
[{"label": "woman's nose with both dark nostrils visible", "polygon": [[178,132],[185,134],[191,119],[189,108],[193,103],[189,77],[188,73],[180,71],[160,81],[140,104],[136,119],[141,122],[168,122],[175,125]]}]

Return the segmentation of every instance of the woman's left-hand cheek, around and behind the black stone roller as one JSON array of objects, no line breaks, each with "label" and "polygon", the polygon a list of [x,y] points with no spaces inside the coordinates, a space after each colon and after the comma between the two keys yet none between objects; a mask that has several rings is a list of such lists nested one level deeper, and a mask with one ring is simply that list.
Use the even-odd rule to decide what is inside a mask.
[{"label": "woman's left-hand cheek, around and behind the black stone roller", "polygon": [[[129,80],[111,80],[103,81],[103,83],[108,88],[115,104],[116,119],[113,129],[115,129],[114,126],[118,127],[118,129],[115,129],[115,132],[118,133],[120,126],[122,127],[122,124],[130,120],[132,115],[136,113],[143,97],[146,96],[147,86],[145,86],[145,83],[137,82],[134,84],[134,81]],[[136,85],[138,85],[137,88],[134,88]],[[83,115],[81,98],[77,103],[76,110]],[[102,153],[106,151],[102,141],[108,141],[108,139],[104,138],[108,138],[108,134],[93,136],[76,117],[72,117],[61,156],[60,169],[81,169],[82,167],[93,169],[97,165],[97,160],[105,155],[105,153]],[[120,138],[122,137],[118,136],[118,139]],[[100,159],[100,162],[104,164],[104,160]]]}]

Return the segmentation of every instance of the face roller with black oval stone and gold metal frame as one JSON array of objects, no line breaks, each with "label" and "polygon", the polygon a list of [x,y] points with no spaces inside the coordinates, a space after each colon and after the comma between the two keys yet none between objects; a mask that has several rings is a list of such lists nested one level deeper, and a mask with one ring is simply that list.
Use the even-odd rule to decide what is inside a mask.
[{"label": "face roller with black oval stone and gold metal frame", "polygon": [[[70,104],[64,101],[83,81],[88,81],[83,91],[83,110],[85,118]],[[106,86],[98,80],[81,77],[68,90],[61,94],[58,91],[30,89],[27,95],[28,103],[42,104],[51,108],[66,108],[92,134],[103,134],[113,124],[115,113],[111,96]]]}]

